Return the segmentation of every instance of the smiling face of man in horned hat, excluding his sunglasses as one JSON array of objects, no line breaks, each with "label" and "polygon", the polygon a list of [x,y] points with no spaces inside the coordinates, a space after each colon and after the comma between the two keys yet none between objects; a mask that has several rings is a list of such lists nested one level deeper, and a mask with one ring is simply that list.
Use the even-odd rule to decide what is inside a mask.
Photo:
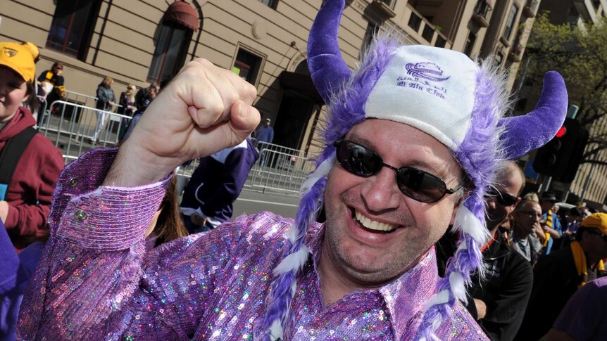
[{"label": "smiling face of man in horned hat, excluding his sunglasses", "polygon": [[[407,124],[365,120],[346,139],[375,150],[384,163],[415,167],[461,184],[461,167],[449,149]],[[358,288],[383,285],[417,264],[444,234],[456,213],[457,195],[428,204],[404,195],[393,169],[373,176],[351,174],[337,163],[327,179],[327,228],[320,262]],[[379,231],[389,229],[390,232]]]}]

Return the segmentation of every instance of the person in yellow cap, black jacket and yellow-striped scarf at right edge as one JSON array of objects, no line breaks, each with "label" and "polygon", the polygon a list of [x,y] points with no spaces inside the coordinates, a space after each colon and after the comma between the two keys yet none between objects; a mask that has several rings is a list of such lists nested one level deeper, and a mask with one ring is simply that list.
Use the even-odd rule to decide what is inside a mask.
[{"label": "person in yellow cap, black jacket and yellow-striped scarf at right edge", "polygon": [[539,340],[548,333],[572,295],[589,281],[605,275],[605,258],[607,214],[594,213],[582,221],[575,241],[537,262],[531,298],[517,340]]}]

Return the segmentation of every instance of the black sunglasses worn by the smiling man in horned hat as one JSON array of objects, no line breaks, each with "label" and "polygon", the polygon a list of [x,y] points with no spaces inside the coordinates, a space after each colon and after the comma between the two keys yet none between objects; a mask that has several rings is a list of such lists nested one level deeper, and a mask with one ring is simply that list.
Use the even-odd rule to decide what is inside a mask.
[{"label": "black sunglasses worn by the smiling man in horned hat", "polygon": [[453,194],[462,188],[464,183],[456,188],[447,188],[438,176],[413,167],[396,168],[387,165],[382,157],[373,150],[360,144],[340,140],[333,143],[337,147],[337,162],[346,171],[358,176],[372,176],[380,172],[382,167],[388,167],[396,172],[396,184],[401,192],[420,202],[432,203],[441,200],[445,194]]}]

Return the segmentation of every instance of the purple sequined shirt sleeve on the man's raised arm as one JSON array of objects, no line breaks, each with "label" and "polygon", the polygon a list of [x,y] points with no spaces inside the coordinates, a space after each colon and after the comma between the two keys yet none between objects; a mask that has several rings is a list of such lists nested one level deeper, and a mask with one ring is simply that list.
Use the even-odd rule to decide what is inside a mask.
[{"label": "purple sequined shirt sleeve on the man's raised arm", "polygon": [[[61,174],[51,237],[23,300],[20,338],[179,340],[194,334],[218,278],[211,271],[236,243],[227,238],[226,250],[213,245],[211,253],[208,243],[190,236],[146,253],[144,231],[168,179],[99,187],[113,157],[115,150],[94,150]],[[196,269],[199,275],[194,259],[204,268]]]}]

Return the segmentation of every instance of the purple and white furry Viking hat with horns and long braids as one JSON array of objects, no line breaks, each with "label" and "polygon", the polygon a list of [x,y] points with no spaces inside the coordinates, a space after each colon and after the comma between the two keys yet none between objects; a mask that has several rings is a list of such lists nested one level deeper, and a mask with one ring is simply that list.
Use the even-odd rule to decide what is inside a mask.
[{"label": "purple and white furry Viking hat with horns and long braids", "polygon": [[374,41],[356,72],[342,58],[337,32],[344,0],[327,0],[308,39],[308,66],[328,105],[325,149],[316,169],[301,187],[301,203],[289,230],[283,258],[274,270],[272,292],[261,323],[265,340],[283,338],[283,326],[296,291],[296,276],[308,260],[303,243],[307,226],[323,205],[327,174],[334,165],[334,141],[366,118],[401,122],[430,134],[447,146],[472,185],[460,205],[453,228],[458,249],[446,276],[425,306],[417,339],[434,340],[434,330],[456,300],[465,302],[470,273],[482,273],[480,245],[488,240],[484,192],[493,185],[503,160],[513,160],[543,146],[565,120],[567,91],[557,72],[544,77],[536,108],[518,117],[503,117],[508,93],[503,75],[463,53],[432,46],[399,45],[395,39]]}]

